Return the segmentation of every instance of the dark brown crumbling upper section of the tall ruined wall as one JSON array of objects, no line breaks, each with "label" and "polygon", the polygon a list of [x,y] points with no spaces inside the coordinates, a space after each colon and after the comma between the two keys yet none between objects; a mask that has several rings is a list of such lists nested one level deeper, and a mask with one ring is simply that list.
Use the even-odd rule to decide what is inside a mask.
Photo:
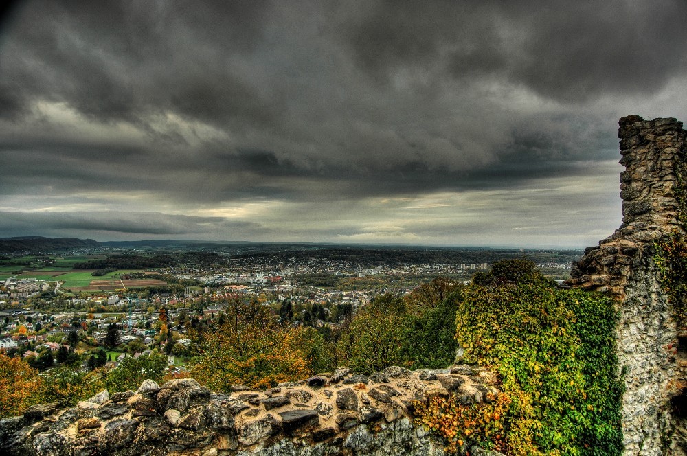
[{"label": "dark brown crumbling upper section of the tall ruined wall", "polygon": [[675,229],[684,231],[683,182],[687,132],[674,118],[619,122],[622,225],[612,236],[589,247],[573,265],[570,286],[609,291],[618,299],[645,249]]}]

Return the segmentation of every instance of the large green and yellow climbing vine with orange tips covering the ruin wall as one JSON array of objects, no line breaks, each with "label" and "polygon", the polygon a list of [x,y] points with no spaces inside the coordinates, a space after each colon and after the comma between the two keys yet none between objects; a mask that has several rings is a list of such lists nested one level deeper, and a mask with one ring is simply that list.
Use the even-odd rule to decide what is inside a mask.
[{"label": "large green and yellow climbing vine with orange tips covering the ruin wall", "polygon": [[538,273],[517,280],[466,287],[456,317],[464,361],[496,372],[502,396],[471,406],[435,398],[416,407],[418,421],[450,451],[620,455],[613,301],[557,289]]}]

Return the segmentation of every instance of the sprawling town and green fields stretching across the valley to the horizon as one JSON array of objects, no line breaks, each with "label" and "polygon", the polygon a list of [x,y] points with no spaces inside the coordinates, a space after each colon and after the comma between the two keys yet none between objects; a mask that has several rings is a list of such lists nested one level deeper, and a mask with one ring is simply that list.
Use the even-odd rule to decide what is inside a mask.
[{"label": "sprawling town and green fields stretching across the valley to the horizon", "polygon": [[[227,303],[255,299],[289,326],[337,326],[374,297],[435,277],[468,282],[495,260],[526,256],[563,280],[581,251],[333,244],[202,244],[45,238],[0,244],[0,350],[42,372],[61,363],[117,367],[152,350],[183,371],[189,332]],[[45,244],[44,244],[45,243]],[[27,244],[27,245],[24,245]]]}]

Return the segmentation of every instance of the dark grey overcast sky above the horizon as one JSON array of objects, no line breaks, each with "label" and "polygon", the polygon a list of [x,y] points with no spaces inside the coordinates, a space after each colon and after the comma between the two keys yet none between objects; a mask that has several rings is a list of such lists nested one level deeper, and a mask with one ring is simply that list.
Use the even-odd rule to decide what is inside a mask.
[{"label": "dark grey overcast sky above the horizon", "polygon": [[687,120],[687,2],[25,1],[0,236],[585,247],[618,119]]}]

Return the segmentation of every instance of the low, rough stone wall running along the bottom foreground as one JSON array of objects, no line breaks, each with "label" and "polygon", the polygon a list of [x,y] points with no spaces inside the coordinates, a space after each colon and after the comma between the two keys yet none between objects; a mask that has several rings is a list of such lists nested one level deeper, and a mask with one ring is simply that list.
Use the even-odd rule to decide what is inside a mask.
[{"label": "low, rough stone wall running along the bottom foreground", "polygon": [[[192,378],[103,391],[77,407],[43,404],[0,420],[2,455],[442,456],[413,423],[413,402],[495,398],[495,377],[466,365],[371,376],[339,369],[267,391],[214,394]],[[497,455],[473,448],[471,455]]]}]

